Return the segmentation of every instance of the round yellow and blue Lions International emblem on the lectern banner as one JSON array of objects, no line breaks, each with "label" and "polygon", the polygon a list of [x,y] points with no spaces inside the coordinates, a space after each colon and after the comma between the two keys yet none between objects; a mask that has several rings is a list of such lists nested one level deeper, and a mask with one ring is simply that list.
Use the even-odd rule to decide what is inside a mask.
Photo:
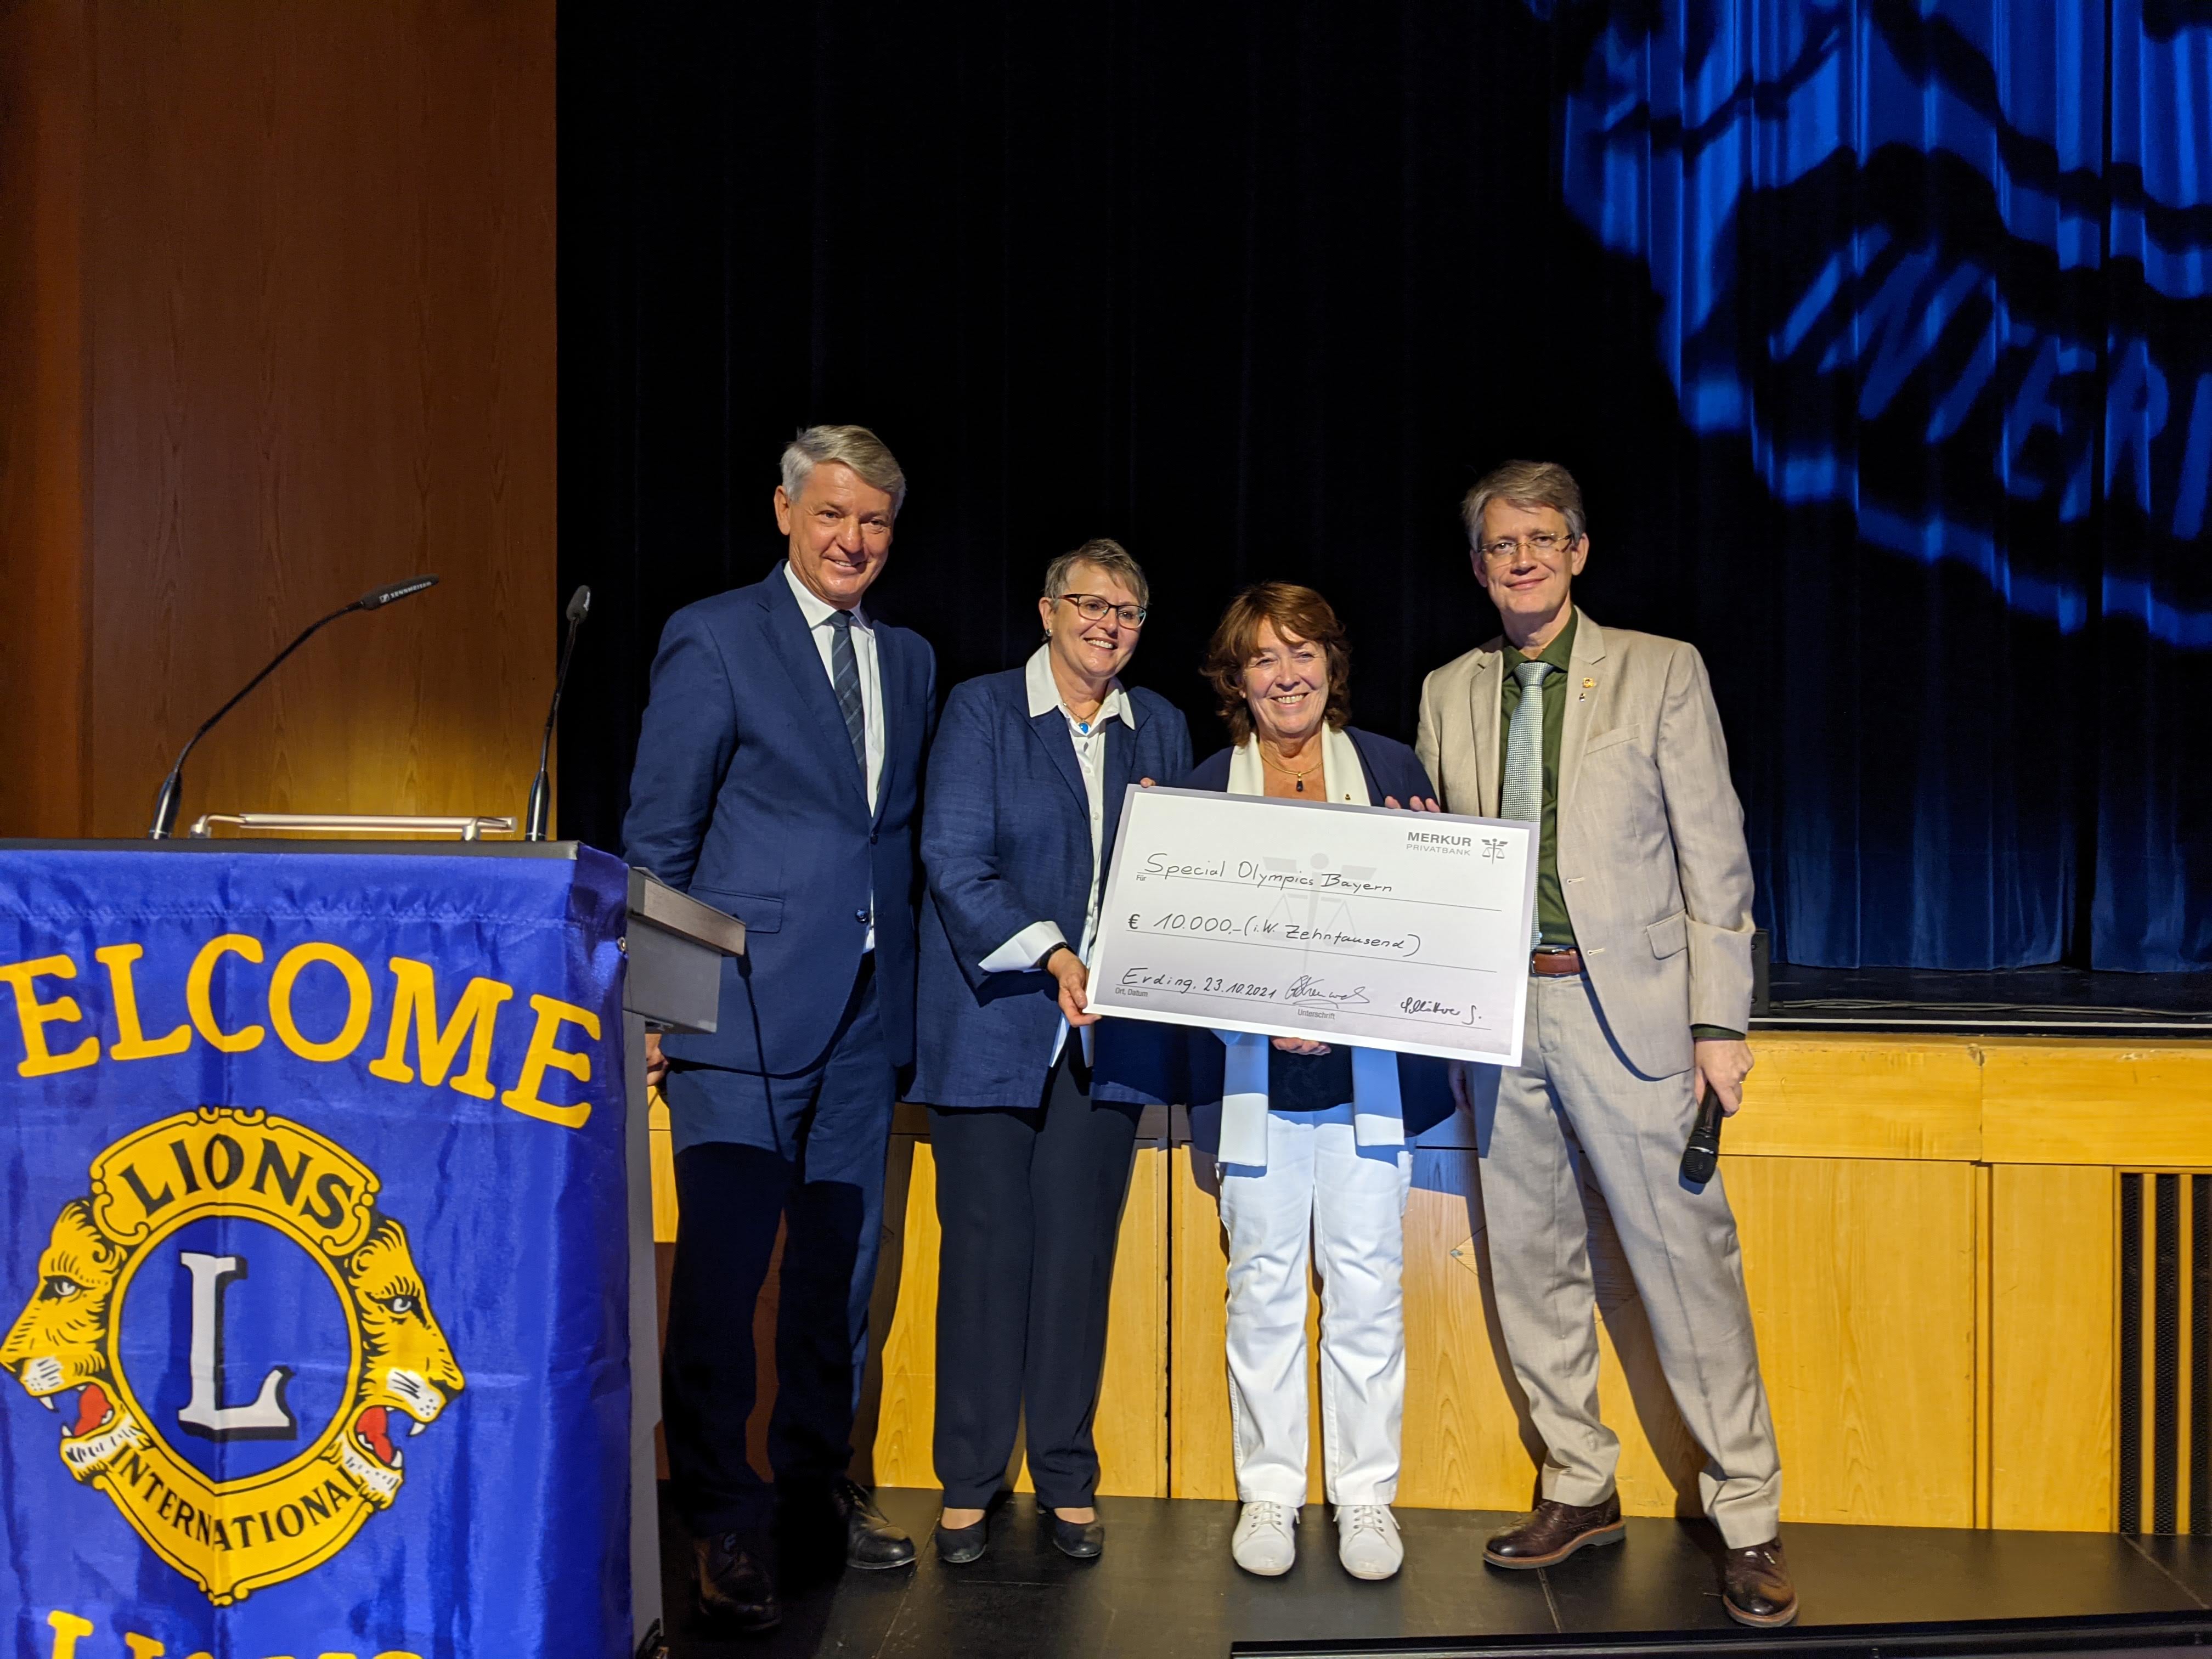
[{"label": "round yellow and blue Lions International emblem on the lectern banner", "polygon": [[93,1159],[0,1343],[69,1473],[217,1606],[343,1551],[462,1389],[376,1192],[283,1117],[150,1124]]}]

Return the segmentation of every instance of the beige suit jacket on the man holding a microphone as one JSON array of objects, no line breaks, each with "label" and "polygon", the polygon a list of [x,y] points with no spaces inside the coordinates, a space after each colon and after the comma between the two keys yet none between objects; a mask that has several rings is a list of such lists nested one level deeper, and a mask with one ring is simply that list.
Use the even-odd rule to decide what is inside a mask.
[{"label": "beige suit jacket on the man holding a microphone", "polygon": [[[1447,812],[1498,816],[1504,639],[1420,688],[1420,763]],[[1705,661],[1582,613],[1559,737],[1559,887],[1628,1062],[1672,1077],[1690,1026],[1752,1013],[1752,858]],[[1551,686],[1546,686],[1551,692]]]}]

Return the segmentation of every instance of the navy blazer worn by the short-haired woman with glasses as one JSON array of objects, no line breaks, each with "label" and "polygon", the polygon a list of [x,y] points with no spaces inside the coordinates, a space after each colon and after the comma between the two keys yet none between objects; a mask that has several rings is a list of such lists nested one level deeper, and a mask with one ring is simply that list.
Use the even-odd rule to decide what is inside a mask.
[{"label": "navy blazer worn by the short-haired woman with glasses", "polygon": [[[1190,770],[1190,728],[1166,697],[1126,690],[1137,728],[1106,721],[1099,872],[1113,863],[1121,796],[1137,779]],[[1057,708],[1031,717],[1022,668],[953,688],[929,750],[922,810],[922,964],[914,1097],[931,1106],[1035,1106],[1060,1024],[1060,982],[1040,969],[984,973],[982,960],[1033,922],[1084,938],[1091,801]],[[1099,1020],[1093,1099],[1166,1102],[1183,1082],[1179,1031]]]}]

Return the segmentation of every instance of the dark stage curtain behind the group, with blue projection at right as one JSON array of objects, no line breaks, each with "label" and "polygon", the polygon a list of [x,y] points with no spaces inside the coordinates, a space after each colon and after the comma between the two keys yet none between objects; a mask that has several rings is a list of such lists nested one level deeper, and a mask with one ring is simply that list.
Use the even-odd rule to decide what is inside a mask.
[{"label": "dark stage curtain behind the group, with blue projection at right", "polygon": [[[1318,586],[1363,726],[1495,630],[1455,520],[1584,482],[1577,597],[1712,666],[1805,964],[2212,962],[2203,4],[608,9],[560,18],[562,830],[619,845],[666,615],[794,427],[911,498],[880,608],[1018,664],[1144,560],[1130,679]],[[566,586],[566,584],[564,584]]]}]

